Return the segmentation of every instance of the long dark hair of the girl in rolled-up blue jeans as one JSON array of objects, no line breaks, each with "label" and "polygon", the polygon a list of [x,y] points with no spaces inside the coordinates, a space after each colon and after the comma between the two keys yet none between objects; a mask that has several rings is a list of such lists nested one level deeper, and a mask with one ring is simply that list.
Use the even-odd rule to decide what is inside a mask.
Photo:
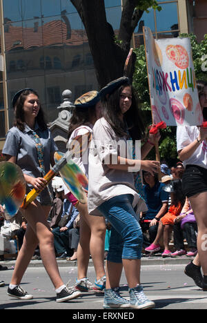
[{"label": "long dark hair of the girl in rolled-up blue jeans", "polygon": [[[130,109],[124,113],[123,123],[119,119],[121,112],[119,99],[121,91],[127,86],[130,86],[132,89],[132,104]],[[128,136],[129,133],[132,140],[140,140],[145,135],[144,122],[141,117],[141,111],[139,110],[139,101],[135,94],[135,90],[130,83],[125,83],[108,96],[108,99],[103,102],[102,115],[118,137]]]}]

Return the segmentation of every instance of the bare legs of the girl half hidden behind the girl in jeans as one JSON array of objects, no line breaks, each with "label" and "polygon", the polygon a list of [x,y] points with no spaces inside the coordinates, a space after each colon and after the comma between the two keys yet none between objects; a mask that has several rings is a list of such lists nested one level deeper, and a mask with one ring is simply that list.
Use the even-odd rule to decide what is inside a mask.
[{"label": "bare legs of the girl half hidden behind the girl in jeans", "polygon": [[97,280],[105,275],[104,244],[106,224],[103,217],[88,214],[85,204],[77,204],[76,208],[81,215],[80,239],[77,248],[78,280],[87,277],[90,254],[95,266]]}]

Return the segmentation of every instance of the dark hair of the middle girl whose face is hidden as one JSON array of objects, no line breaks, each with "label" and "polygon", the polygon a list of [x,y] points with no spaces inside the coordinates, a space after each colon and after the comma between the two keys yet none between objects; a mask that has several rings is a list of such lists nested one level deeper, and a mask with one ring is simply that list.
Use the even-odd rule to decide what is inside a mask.
[{"label": "dark hair of the middle girl whose face is hidden", "polygon": [[68,139],[76,128],[90,123],[90,121],[95,117],[96,114],[95,107],[96,104],[86,108],[81,107],[74,108],[72,110],[72,116],[70,118],[70,124],[68,128]]}]

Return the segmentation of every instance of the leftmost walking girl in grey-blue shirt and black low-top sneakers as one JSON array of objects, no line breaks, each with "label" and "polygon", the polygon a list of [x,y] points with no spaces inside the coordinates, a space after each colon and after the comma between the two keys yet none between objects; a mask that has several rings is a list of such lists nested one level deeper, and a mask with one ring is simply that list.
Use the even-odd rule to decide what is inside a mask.
[{"label": "leftmost walking girl in grey-blue shirt and black low-top sneakers", "polygon": [[6,155],[8,161],[17,164],[23,171],[27,193],[32,188],[42,191],[26,210],[21,210],[23,217],[27,219],[28,226],[12,280],[8,286],[8,295],[19,300],[33,298],[19,284],[34,255],[34,249],[39,244],[43,265],[55,286],[57,302],[72,300],[81,293],[75,291],[74,288],[67,288],[59,275],[53,235],[47,222],[52,202],[51,194],[47,188],[43,190],[47,183],[43,175],[50,170],[50,164],[55,164],[53,155],[57,148],[44,120],[39,95],[36,91],[31,88],[19,90],[12,99],[12,106],[14,127],[6,135],[3,155]]}]

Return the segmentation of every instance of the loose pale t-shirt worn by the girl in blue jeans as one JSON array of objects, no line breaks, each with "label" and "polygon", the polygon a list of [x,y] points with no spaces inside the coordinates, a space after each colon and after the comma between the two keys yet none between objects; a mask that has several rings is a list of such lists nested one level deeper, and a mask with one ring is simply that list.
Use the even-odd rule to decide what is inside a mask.
[{"label": "loose pale t-shirt worn by the girl in blue jeans", "polygon": [[117,137],[103,117],[95,123],[88,167],[88,212],[91,215],[101,215],[97,209],[99,205],[111,197],[123,194],[133,195],[132,206],[134,208],[137,206],[137,213],[148,210],[144,200],[135,190],[133,173],[107,166],[109,156],[112,156],[115,161],[118,155],[128,156],[125,149],[126,142],[125,137]]}]

